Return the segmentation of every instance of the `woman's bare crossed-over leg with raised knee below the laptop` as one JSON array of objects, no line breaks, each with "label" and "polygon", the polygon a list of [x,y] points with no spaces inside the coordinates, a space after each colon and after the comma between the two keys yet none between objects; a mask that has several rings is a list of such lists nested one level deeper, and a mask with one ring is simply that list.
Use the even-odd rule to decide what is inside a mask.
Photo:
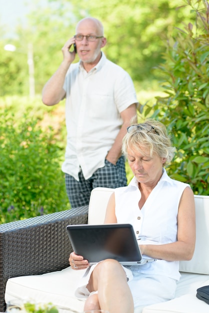
[{"label": "woman's bare crossed-over leg with raised knee below the laptop", "polygon": [[96,265],[91,273],[87,289],[98,290],[98,303],[109,313],[133,313],[133,298],[120,263],[106,259]]}]

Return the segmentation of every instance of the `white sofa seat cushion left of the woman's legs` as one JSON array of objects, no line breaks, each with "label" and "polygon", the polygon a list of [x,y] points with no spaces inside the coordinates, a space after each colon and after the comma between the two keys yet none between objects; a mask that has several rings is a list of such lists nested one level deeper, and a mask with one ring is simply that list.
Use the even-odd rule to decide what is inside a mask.
[{"label": "white sofa seat cushion left of the woman's legs", "polygon": [[35,303],[52,302],[59,312],[82,312],[84,301],[75,298],[76,283],[85,270],[75,271],[70,267],[61,271],[42,275],[9,278],[6,283],[5,301],[12,298],[34,301]]}]

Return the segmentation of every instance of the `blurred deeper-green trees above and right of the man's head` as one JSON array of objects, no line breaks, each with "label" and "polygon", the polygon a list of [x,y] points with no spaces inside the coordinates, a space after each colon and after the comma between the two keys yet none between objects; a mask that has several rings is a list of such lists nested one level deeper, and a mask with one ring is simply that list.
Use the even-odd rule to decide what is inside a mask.
[{"label": "blurred deeper-green trees above and right of the man's head", "polygon": [[[58,2],[57,0],[52,0]],[[67,1],[67,0],[65,0]],[[79,19],[94,16],[104,25],[106,56],[128,71],[134,81],[156,77],[152,67],[162,61],[163,39],[171,25],[187,20],[188,11],[177,10],[182,0],[71,0]]]}]

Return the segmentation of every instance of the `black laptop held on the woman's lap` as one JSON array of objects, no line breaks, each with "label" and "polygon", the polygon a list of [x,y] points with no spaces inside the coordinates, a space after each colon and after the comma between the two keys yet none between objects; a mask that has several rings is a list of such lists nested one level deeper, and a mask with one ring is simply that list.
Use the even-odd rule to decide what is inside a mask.
[{"label": "black laptop held on the woman's lap", "polygon": [[90,264],[107,258],[122,265],[142,265],[154,261],[143,258],[131,224],[67,225],[74,252]]}]

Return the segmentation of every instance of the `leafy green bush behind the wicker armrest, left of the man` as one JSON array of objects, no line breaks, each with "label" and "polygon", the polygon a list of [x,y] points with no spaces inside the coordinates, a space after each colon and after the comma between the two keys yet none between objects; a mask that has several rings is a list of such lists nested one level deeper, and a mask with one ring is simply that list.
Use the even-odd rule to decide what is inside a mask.
[{"label": "leafy green bush behind the wicker armrest, left of the man", "polygon": [[0,120],[0,223],[68,209],[54,130],[10,111],[2,109]]}]

